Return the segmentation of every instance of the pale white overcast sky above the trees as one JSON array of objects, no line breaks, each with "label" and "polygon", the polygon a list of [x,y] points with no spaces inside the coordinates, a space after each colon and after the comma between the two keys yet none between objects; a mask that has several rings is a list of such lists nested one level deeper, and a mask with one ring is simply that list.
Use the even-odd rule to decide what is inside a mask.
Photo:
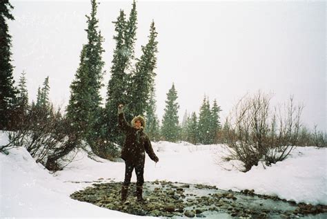
[{"label": "pale white overcast sky above the trees", "polygon": [[[82,44],[90,1],[10,1],[14,77],[26,71],[30,99],[50,76],[50,99],[66,106]],[[114,24],[130,1],[100,1],[99,28],[105,38],[110,79],[115,48]],[[164,114],[166,93],[175,83],[179,119],[199,112],[204,95],[217,99],[228,115],[237,99],[261,89],[275,93],[273,104],[290,95],[305,105],[302,118],[326,130],[326,3],[324,1],[137,1],[136,55],[155,21],[157,114]],[[106,98],[106,86],[103,98]]]}]

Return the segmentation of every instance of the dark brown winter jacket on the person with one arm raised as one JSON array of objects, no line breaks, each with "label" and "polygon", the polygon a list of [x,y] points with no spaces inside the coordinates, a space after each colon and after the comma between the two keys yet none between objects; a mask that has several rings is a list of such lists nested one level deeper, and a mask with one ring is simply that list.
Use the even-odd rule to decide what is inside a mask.
[{"label": "dark brown winter jacket on the person with one arm raised", "polygon": [[146,160],[145,152],[148,153],[151,160],[158,160],[152,149],[148,135],[143,132],[143,128],[138,130],[133,126],[130,126],[130,124],[126,122],[123,113],[119,113],[118,115],[118,125],[119,128],[121,128],[121,131],[126,135],[123,149],[121,149],[121,158],[123,158],[123,160],[126,162],[132,162],[132,164],[141,164],[144,166]]}]

